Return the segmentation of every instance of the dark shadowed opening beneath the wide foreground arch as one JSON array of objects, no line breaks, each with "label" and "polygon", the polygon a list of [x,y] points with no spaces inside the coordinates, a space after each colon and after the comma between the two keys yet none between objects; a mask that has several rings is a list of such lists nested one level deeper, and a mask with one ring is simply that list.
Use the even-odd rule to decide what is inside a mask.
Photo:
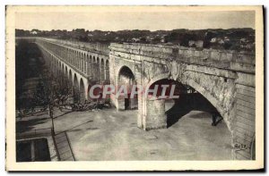
[{"label": "dark shadowed opening beneath the wide foreground arch", "polygon": [[[212,115],[213,126],[221,122],[222,117],[218,110],[203,95],[197,92],[195,88],[183,85],[176,80],[167,79],[154,82],[150,88],[153,89],[155,85],[158,85],[157,98],[161,96],[161,85],[169,85],[165,93],[165,96],[167,96],[167,98],[165,98],[165,111],[168,128],[191,111],[210,113]],[[175,86],[173,95],[179,96],[178,98],[169,98],[172,85]],[[152,96],[152,94],[150,94],[150,96]]]}]

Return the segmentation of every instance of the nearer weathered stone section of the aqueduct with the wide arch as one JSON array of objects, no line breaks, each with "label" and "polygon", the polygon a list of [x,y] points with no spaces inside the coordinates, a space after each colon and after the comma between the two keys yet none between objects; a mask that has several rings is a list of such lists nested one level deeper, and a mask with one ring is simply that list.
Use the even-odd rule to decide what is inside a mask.
[{"label": "nearer weathered stone section of the aqueduct with the wide arch", "polygon": [[[221,113],[232,136],[232,145],[247,149],[234,151],[236,159],[251,157],[255,137],[255,55],[180,46],[111,44],[110,82],[117,85],[123,66],[134,72],[143,86],[161,79],[177,80],[195,88]],[[113,99],[118,104],[117,99]],[[165,128],[163,100],[138,96],[138,127]]]}]

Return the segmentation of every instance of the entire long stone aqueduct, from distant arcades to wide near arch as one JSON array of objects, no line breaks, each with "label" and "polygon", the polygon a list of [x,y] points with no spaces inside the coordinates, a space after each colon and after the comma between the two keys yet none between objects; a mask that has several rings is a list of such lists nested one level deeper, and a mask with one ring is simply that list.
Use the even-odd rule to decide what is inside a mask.
[{"label": "entire long stone aqueduct, from distant arcades to wide near arch", "polygon": [[[255,143],[255,54],[197,50],[182,46],[116,44],[102,46],[52,38],[35,38],[44,58],[60,70],[87,99],[95,83],[120,84],[121,71],[131,72],[132,81],[143,86],[159,80],[175,80],[194,88],[221,114],[232,138],[235,159],[251,159]],[[129,74],[129,73],[128,73]],[[118,110],[125,100],[111,96]],[[167,127],[163,99],[137,97],[137,126],[143,130]]]}]

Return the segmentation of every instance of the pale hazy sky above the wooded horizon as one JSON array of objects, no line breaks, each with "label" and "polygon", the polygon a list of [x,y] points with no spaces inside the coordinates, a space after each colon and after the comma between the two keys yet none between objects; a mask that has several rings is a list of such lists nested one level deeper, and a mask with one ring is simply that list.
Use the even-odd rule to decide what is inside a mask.
[{"label": "pale hazy sky above the wooded horizon", "polygon": [[[134,8],[135,9],[135,8]],[[140,9],[113,10],[92,9],[87,11],[26,11],[15,15],[16,29],[255,29],[254,11],[181,11]]]}]

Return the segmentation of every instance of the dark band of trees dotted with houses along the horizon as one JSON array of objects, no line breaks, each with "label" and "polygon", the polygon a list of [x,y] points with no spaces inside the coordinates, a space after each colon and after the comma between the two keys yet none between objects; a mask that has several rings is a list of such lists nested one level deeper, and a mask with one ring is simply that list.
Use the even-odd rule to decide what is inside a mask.
[{"label": "dark band of trees dotted with houses along the horizon", "polygon": [[[173,30],[118,30],[101,31],[67,30],[23,30],[16,29],[16,37],[46,37],[77,40],[82,42],[136,42],[145,44],[179,45],[199,48],[255,50],[254,29],[173,29]],[[200,43],[200,44],[199,44]],[[201,45],[202,44],[202,45]]]}]

